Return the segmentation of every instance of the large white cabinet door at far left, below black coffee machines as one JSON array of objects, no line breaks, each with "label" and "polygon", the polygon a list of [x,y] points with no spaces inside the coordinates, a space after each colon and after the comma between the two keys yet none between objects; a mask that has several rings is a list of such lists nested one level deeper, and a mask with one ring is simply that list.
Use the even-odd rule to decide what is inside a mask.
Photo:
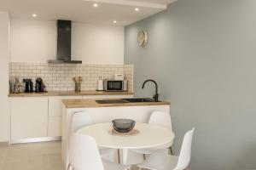
[{"label": "large white cabinet door at far left, below black coffee machines", "polygon": [[47,136],[48,98],[11,99],[11,139],[33,139]]}]

